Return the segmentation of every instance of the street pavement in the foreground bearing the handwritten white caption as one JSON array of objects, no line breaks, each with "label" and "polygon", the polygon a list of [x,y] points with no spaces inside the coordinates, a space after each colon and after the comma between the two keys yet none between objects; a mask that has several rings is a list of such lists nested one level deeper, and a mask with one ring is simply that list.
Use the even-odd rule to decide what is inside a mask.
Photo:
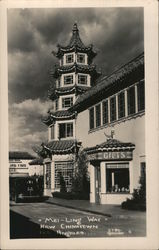
[{"label": "street pavement in the foreground bearing the handwritten white caption", "polygon": [[46,202],[15,203],[10,210],[11,238],[146,236],[145,212],[110,217]]}]

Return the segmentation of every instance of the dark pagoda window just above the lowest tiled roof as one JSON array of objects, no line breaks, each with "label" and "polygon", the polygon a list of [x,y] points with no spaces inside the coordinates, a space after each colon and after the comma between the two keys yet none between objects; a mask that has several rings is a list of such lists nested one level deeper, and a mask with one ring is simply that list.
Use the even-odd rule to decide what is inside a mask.
[{"label": "dark pagoda window just above the lowest tiled roof", "polygon": [[59,138],[73,137],[73,123],[59,124]]}]

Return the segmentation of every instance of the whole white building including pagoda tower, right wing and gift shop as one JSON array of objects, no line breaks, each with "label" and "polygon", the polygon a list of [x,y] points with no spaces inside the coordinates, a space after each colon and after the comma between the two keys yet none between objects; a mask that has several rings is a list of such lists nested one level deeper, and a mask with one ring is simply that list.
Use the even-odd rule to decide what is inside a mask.
[{"label": "whole white building including pagoda tower, right wing and gift shop", "polygon": [[44,194],[67,191],[79,148],[88,155],[90,202],[120,204],[131,197],[145,171],[144,54],[110,76],[92,64],[96,53],[85,46],[74,24],[70,43],[54,53],[59,65],[49,97],[53,110],[43,120],[48,142],[37,153],[44,158]]}]

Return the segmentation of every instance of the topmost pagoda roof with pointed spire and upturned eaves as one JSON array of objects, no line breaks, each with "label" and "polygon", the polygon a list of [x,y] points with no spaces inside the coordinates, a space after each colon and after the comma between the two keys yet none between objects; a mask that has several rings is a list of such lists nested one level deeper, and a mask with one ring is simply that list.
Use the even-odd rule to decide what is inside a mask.
[{"label": "topmost pagoda roof with pointed spire and upturned eaves", "polygon": [[52,52],[57,58],[61,58],[64,53],[68,53],[68,52],[84,52],[87,53],[90,60],[92,61],[92,59],[96,56],[96,52],[93,51],[93,45],[89,45],[89,46],[85,46],[84,43],[82,42],[80,35],[79,35],[79,30],[77,27],[77,24],[75,23],[73,25],[73,29],[72,29],[72,37],[70,39],[70,42],[67,46],[61,46],[61,45],[57,45],[58,47],[58,51],[57,52]]}]

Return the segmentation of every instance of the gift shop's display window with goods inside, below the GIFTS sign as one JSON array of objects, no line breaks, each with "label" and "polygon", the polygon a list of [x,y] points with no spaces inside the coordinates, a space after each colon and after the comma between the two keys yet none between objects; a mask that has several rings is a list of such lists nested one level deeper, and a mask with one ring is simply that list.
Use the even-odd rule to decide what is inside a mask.
[{"label": "gift shop's display window with goods inside, below the GIFTS sign", "polygon": [[129,165],[107,164],[106,185],[108,193],[129,193]]}]

